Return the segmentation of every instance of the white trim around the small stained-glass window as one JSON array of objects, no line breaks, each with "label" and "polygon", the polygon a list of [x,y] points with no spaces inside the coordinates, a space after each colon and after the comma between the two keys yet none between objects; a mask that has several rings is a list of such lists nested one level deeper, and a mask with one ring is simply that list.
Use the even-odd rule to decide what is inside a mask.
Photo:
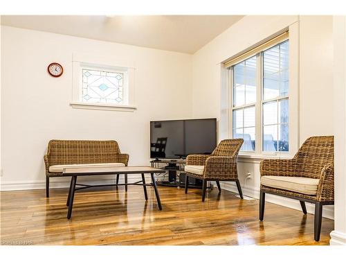
[{"label": "white trim around the small stained-glass window", "polygon": [[[108,69],[109,71],[125,73],[127,88],[124,89],[127,105],[106,104],[106,103],[84,103],[81,99],[82,69]],[[72,98],[70,105],[73,108],[87,110],[114,110],[114,111],[134,111],[137,109],[134,101],[135,91],[135,66],[128,61],[120,61],[111,56],[100,57],[85,53],[73,53],[72,57]]]}]

